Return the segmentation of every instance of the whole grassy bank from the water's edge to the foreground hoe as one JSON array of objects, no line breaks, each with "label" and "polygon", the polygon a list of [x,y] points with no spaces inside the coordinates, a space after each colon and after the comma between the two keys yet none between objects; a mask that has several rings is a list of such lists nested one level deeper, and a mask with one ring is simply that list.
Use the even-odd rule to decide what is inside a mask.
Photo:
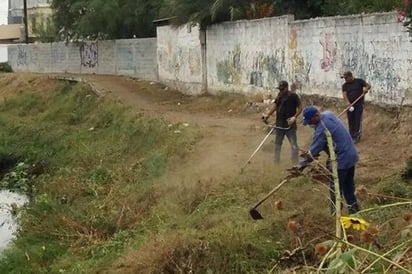
[{"label": "whole grassy bank from the water's edge to the foreground hoe", "polygon": [[251,225],[245,210],[249,191],[267,185],[252,190],[246,176],[157,183],[172,157],[191,152],[196,128],[70,84],[49,96],[23,92],[0,112],[0,155],[42,164],[42,173],[21,175],[31,202],[0,273],[260,273],[280,257],[282,235],[273,223]]}]

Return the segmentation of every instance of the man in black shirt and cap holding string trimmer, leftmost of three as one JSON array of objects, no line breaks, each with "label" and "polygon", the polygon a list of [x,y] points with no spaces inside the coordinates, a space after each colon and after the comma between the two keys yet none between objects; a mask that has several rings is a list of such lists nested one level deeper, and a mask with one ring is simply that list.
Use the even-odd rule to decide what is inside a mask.
[{"label": "man in black shirt and cap holding string trimmer, leftmost of three", "polygon": [[299,96],[289,90],[286,81],[279,82],[279,93],[275,99],[273,108],[262,119],[267,122],[270,115],[276,112],[275,124],[275,162],[280,161],[280,151],[283,139],[288,138],[292,147],[292,162],[296,164],[299,160],[299,148],[296,136],[296,119],[302,112],[302,103]]}]

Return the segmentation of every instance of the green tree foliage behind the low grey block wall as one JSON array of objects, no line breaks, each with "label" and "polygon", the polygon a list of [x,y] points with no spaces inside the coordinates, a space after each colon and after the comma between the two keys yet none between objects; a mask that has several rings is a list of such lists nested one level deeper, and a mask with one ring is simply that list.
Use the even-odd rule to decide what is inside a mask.
[{"label": "green tree foliage behind the low grey block wall", "polygon": [[61,39],[155,36],[153,20],[163,0],[53,0]]}]

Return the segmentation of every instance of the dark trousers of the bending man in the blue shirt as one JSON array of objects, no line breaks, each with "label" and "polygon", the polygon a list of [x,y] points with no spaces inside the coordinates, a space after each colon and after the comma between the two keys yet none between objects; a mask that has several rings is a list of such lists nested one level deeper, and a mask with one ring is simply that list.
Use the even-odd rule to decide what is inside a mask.
[{"label": "dark trousers of the bending man in the blue shirt", "polygon": [[[358,201],[355,196],[355,167],[348,169],[338,169],[339,178],[339,188],[341,195],[345,198],[348,204],[349,214],[356,213],[359,211]],[[336,196],[335,196],[335,185],[333,180],[330,181],[330,199],[332,201],[332,212],[335,212]]]}]

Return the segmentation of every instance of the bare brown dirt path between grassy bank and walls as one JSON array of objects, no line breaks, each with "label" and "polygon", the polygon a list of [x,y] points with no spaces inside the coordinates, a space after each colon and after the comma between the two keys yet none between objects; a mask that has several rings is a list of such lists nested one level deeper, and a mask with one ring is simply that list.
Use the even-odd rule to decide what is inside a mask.
[{"label": "bare brown dirt path between grassy bank and walls", "polygon": [[[84,77],[97,89],[155,117],[171,123],[189,123],[198,126],[204,138],[184,162],[172,164],[164,176],[176,183],[214,180],[240,173],[240,168],[265,136],[258,113],[231,113],[230,109],[209,106],[207,98],[194,98],[165,90],[162,85],[123,77]],[[211,109],[210,109],[211,108]],[[273,138],[270,138],[272,140]],[[273,167],[273,142],[268,141],[248,172],[259,172]],[[285,144],[285,158],[289,158],[289,144]],[[246,171],[246,169],[245,169]],[[165,179],[166,180],[166,179]],[[169,182],[170,183],[170,182]]]}]

